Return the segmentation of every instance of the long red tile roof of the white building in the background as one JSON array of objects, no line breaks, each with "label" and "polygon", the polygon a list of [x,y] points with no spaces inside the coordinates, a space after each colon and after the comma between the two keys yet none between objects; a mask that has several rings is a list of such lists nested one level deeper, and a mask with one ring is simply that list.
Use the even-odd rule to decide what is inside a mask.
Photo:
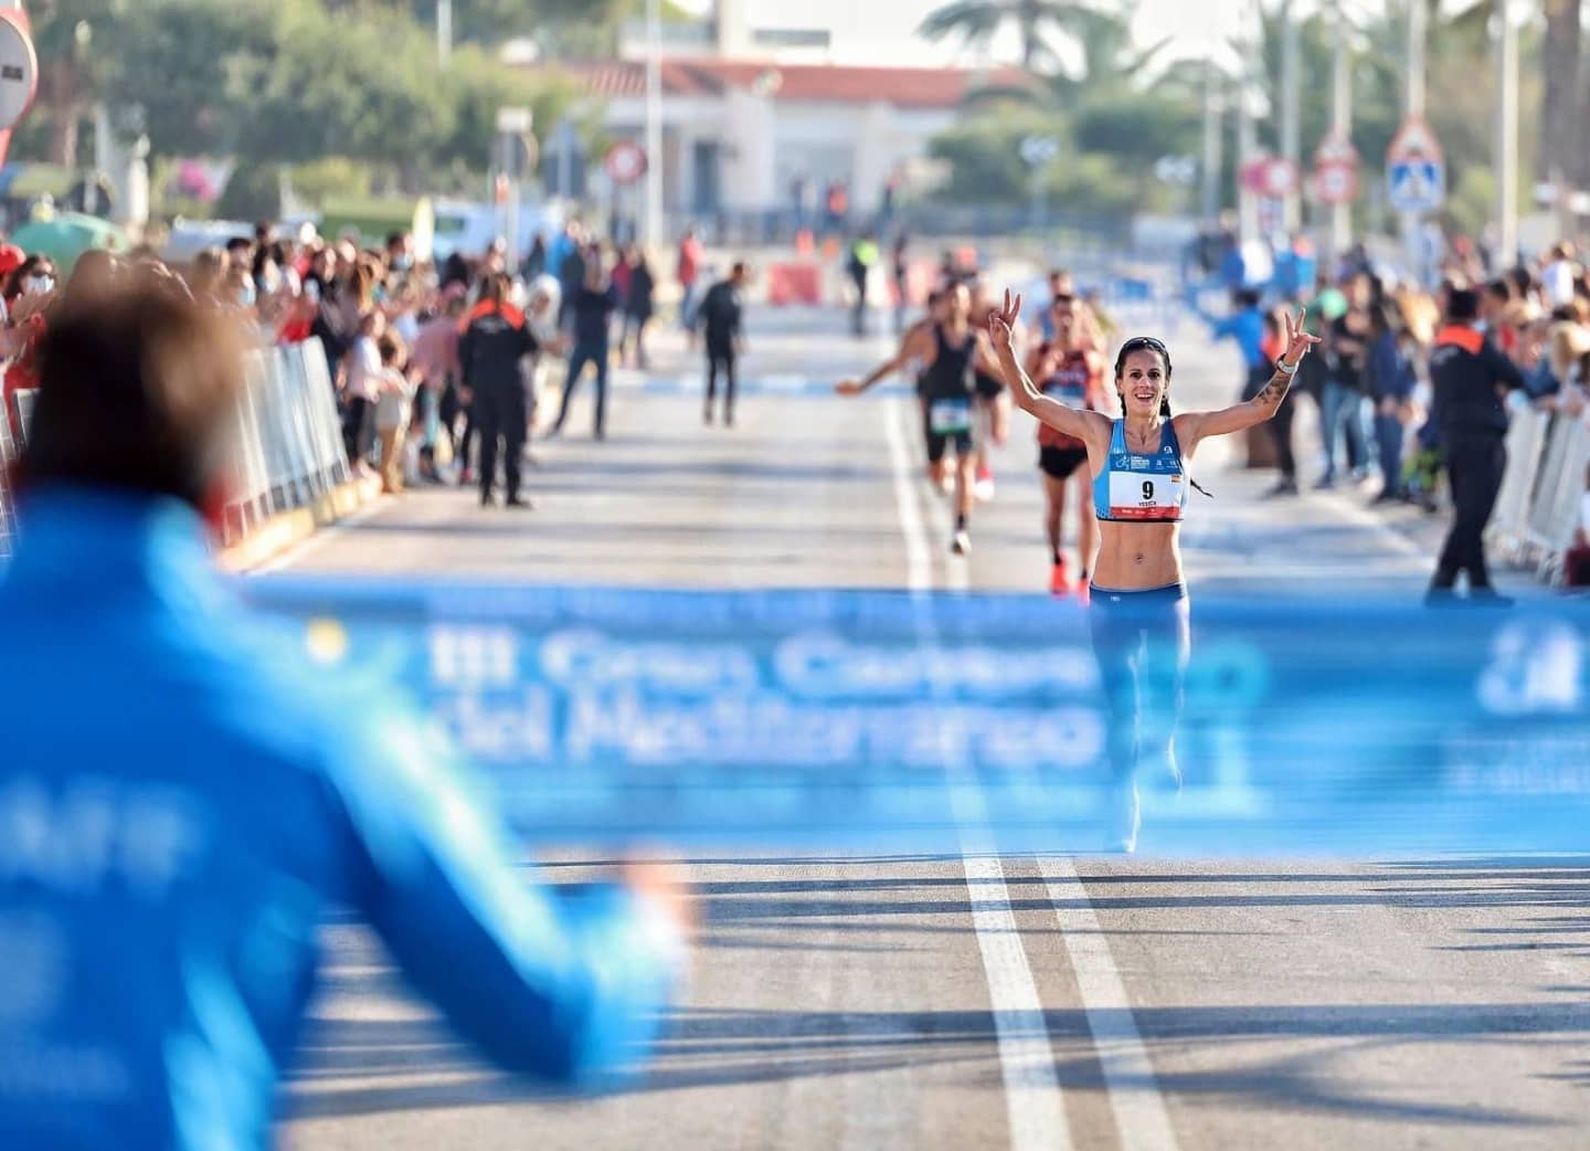
[{"label": "long red tile roof of the white building in the background", "polygon": [[[646,65],[633,60],[571,64],[571,75],[587,94],[639,97],[646,94]],[[983,84],[1021,83],[1013,68],[871,68],[836,64],[757,64],[752,60],[673,59],[661,64],[666,95],[720,95],[728,87],[749,89],[758,79],[776,84],[774,100],[871,103],[897,108],[954,108]],[[765,79],[763,79],[765,78]]]}]

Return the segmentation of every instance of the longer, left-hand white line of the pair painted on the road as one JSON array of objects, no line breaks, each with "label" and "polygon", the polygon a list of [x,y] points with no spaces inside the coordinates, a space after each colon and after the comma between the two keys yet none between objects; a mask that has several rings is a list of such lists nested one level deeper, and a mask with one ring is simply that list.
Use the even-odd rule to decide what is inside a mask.
[{"label": "longer, left-hand white line of the pair painted on the road", "polygon": [[[911,405],[890,402],[884,409],[895,504],[900,510],[900,533],[906,542],[906,585],[917,601],[917,645],[924,652],[932,652],[938,645],[932,604],[927,598],[933,580],[929,544],[916,502],[917,467],[905,447],[909,426]],[[948,534],[944,539],[948,541]],[[957,564],[951,564],[951,582],[965,590],[964,563],[959,564],[959,574]],[[935,685],[935,693],[938,690]],[[956,820],[962,827],[960,865],[967,878],[971,925],[976,930],[983,973],[989,986],[1000,1076],[1005,1081],[1010,1146],[1011,1151],[1070,1151],[1065,1100],[1054,1070],[1054,1049],[1043,1017],[1043,1002],[1038,998],[1038,986],[1032,978],[1021,933],[1016,930],[1005,871],[991,851],[983,790],[965,765],[954,758],[948,739],[943,766],[952,789]]]}]

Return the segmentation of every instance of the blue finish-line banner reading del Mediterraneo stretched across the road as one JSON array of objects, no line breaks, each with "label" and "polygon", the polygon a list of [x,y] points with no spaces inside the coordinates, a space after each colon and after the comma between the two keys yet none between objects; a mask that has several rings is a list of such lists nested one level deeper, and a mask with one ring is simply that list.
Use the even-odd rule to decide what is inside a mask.
[{"label": "blue finish-line banner reading del Mediterraneo stretched across the road", "polygon": [[[286,577],[248,595],[337,674],[415,693],[537,844],[1092,851],[1132,723],[1088,610],[1048,598]],[[1185,785],[1142,766],[1140,851],[1590,847],[1584,603],[1205,598],[1191,634]],[[1145,746],[1175,652],[1150,642],[1135,666],[1124,736]]]}]

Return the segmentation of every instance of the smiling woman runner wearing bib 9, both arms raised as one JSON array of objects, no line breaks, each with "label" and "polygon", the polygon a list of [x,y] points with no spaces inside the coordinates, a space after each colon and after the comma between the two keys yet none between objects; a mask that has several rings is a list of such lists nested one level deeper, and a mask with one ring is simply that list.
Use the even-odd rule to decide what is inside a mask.
[{"label": "smiling woman runner wearing bib 9, both arms raised", "polygon": [[1180,787],[1175,731],[1189,657],[1188,591],[1178,529],[1191,483],[1186,466],[1212,436],[1253,428],[1275,415],[1297,364],[1320,342],[1302,313],[1286,315],[1285,351],[1258,396],[1218,412],[1170,415],[1170,351],[1153,337],[1121,345],[1115,388],[1124,418],[1111,420],[1045,396],[1011,348],[1021,296],[1005,293],[991,312],[989,335],[1016,404],[1057,432],[1086,445],[1099,517],[1099,563],[1089,617],[1094,655],[1110,711],[1110,773],[1115,782],[1110,846],[1137,846],[1137,777],[1148,766]]}]

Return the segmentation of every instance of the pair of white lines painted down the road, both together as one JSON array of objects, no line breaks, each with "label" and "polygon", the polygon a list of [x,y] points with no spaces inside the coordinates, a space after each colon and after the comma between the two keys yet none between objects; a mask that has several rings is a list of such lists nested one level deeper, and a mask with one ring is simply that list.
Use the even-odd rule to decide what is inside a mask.
[{"label": "pair of white lines painted down the road, both together", "polygon": [[[929,655],[938,647],[929,593],[933,590],[933,563],[922,504],[916,494],[916,471],[908,437],[914,434],[909,401],[890,399],[884,405],[884,436],[894,471],[895,507],[905,536],[906,588],[916,599],[917,645]],[[937,501],[929,501],[935,520],[933,537],[949,539],[949,517]],[[968,572],[964,560],[948,564],[951,591],[965,591]],[[941,666],[929,660],[930,668]],[[948,698],[948,687],[935,684],[933,693]],[[1005,868],[994,854],[987,808],[975,773],[956,760],[948,742],[941,744],[943,766],[954,796],[960,825],[960,865],[967,878],[971,924],[976,928],[983,971],[989,986],[1000,1075],[1005,1081],[1005,1110],[1011,1151],[1070,1151],[1072,1132],[1065,1097],[1056,1072],[1043,1002],[1010,906]],[[1099,917],[1088,901],[1076,870],[1068,858],[1040,860],[1041,871],[1061,927],[1061,940],[1081,992],[1083,1010],[1094,1037],[1105,1091],[1115,1113],[1121,1146],[1134,1151],[1177,1151],[1175,1132],[1164,1099],[1154,1083],[1153,1065],[1132,1019],[1126,987],[1110,954]]]}]

